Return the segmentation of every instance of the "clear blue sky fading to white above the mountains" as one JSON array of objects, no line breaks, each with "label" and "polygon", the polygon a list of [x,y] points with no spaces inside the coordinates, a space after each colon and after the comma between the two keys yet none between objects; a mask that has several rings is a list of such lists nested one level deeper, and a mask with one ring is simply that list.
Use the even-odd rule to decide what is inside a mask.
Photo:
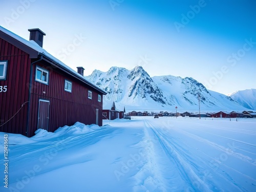
[{"label": "clear blue sky fading to white above the mountains", "polygon": [[85,75],[142,66],[223,94],[256,88],[254,0],[1,0],[0,25]]}]

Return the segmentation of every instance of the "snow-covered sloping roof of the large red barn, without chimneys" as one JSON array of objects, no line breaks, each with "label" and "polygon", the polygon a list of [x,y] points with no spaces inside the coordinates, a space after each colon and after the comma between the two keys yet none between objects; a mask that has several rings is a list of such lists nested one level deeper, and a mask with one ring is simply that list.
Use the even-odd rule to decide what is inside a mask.
[{"label": "snow-covered sloping roof of the large red barn, without chimneys", "polygon": [[50,53],[48,53],[45,49],[41,48],[34,40],[26,40],[20,36],[18,36],[17,34],[3,28],[2,26],[0,26],[0,31],[4,32],[5,34],[11,36],[12,38],[18,40],[19,42],[22,42],[22,44],[28,46],[29,48],[35,50],[38,52],[38,55],[41,55],[43,57],[47,57],[48,59],[50,59],[51,61],[53,61],[55,63],[55,66],[62,69],[62,70],[66,70],[69,71],[70,73],[72,73],[72,75],[74,75],[77,79],[85,82],[86,84],[88,84],[89,86],[95,88],[96,90],[98,90],[99,92],[101,92],[102,94],[106,95],[106,92],[103,91],[102,89],[100,89],[99,87],[97,87],[95,84],[93,84],[92,82],[90,82],[86,77],[80,75],[79,73],[77,73],[75,70],[71,69],[70,67],[68,67],[65,63],[63,63],[62,61],[60,61],[59,59],[57,59],[56,57],[52,56]]}]

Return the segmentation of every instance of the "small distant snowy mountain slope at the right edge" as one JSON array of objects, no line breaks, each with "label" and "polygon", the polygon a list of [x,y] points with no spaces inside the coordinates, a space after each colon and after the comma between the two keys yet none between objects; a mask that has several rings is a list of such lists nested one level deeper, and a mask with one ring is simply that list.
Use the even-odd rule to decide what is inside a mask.
[{"label": "small distant snowy mountain slope at the right edge", "polygon": [[256,110],[256,89],[237,91],[229,96],[245,108]]}]

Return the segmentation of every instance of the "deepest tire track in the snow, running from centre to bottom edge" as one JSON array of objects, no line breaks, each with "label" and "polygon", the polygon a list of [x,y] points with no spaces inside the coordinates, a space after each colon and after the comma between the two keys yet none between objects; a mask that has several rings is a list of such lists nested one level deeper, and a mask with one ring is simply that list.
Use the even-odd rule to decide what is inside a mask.
[{"label": "deepest tire track in the snow, running from centre to bottom edge", "polygon": [[[153,125],[150,121],[144,119],[145,124],[145,135],[148,135],[151,139],[154,138],[154,145],[158,145],[162,148],[162,154],[157,154],[162,156],[162,158],[167,159],[165,161],[164,166],[160,166],[159,168],[170,169],[173,173],[173,177],[164,178],[166,187],[172,188],[172,186],[168,186],[169,184],[176,183],[175,188],[177,191],[180,191],[181,188],[183,191],[212,191],[209,186],[198,176],[191,166],[191,163],[194,166],[197,166],[193,163],[192,159],[189,159],[189,156],[193,154],[189,154],[190,152],[183,148],[181,145],[176,143],[174,140],[171,140],[170,137],[167,136],[167,133],[161,129],[157,129],[156,125]],[[157,147],[157,146],[156,146]],[[186,154],[189,154],[186,156]],[[161,162],[156,162],[157,164],[161,164]],[[201,167],[197,167],[198,169],[202,169]],[[164,170],[162,169],[164,172]],[[174,191],[174,190],[172,190]]]}]

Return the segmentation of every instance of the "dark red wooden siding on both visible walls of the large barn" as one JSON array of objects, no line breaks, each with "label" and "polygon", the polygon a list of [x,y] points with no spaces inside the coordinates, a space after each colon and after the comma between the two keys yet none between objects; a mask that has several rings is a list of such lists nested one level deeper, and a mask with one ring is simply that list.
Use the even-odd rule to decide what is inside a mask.
[{"label": "dark red wooden siding on both visible walls of the large barn", "polygon": [[[33,136],[38,124],[39,99],[50,101],[48,131],[54,132],[60,126],[73,125],[77,121],[96,123],[96,109],[98,124],[102,125],[102,93],[44,60],[32,66],[29,95],[31,63],[38,60],[30,56],[0,38],[0,60],[8,60],[7,79],[0,80],[0,86],[7,86],[7,92],[0,93],[1,132]],[[48,85],[35,81],[36,66],[49,71]],[[65,79],[72,82],[72,93],[64,90]],[[88,90],[92,91],[92,99],[88,98]]]}]

